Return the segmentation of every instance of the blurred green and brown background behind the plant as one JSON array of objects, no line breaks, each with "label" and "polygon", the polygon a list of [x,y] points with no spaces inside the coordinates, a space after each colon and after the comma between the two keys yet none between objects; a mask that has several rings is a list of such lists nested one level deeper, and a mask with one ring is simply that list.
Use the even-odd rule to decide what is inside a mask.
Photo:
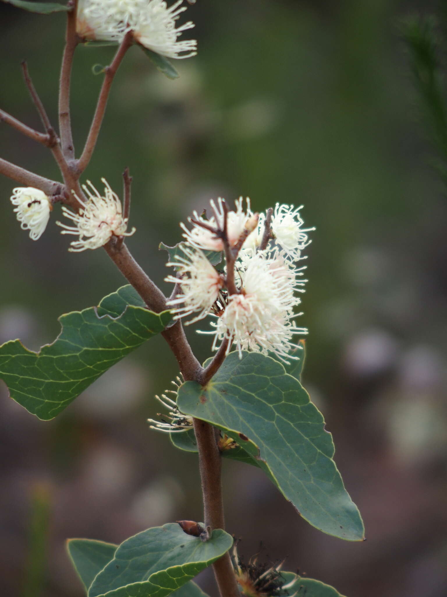
[{"label": "blurred green and brown background behind the plant", "polygon": [[[423,0],[198,0],[187,13],[198,56],[175,61],[181,78],[169,81],[138,48],[129,51],[86,171],[98,187],[104,176],[119,190],[131,168],[137,232],[128,246],[166,292],[158,246],[179,241],[178,222],[193,208],[240,195],[259,211],[305,204],[316,232],[299,321],[309,328],[304,383],[333,432],[368,540],[319,533],[260,471],[227,462],[226,524],[243,538],[246,559],[262,541],[269,559],[287,556],[285,570],[299,567],[348,597],[447,595],[447,201],[415,119],[398,33],[399,19],[431,8]],[[0,106],[35,127],[20,60],[55,121],[63,27],[61,14],[0,5]],[[78,155],[101,84],[91,67],[112,55],[77,51]],[[0,155],[58,179],[49,152],[6,125]],[[57,336],[61,313],[98,304],[125,281],[104,251],[67,253],[58,208],[30,241],[8,200],[14,186],[0,179],[0,341],[21,338],[36,350]],[[205,359],[209,338],[189,336]],[[67,537],[119,543],[152,525],[200,520],[197,461],[146,422],[159,410],[154,393],[177,373],[154,338],[49,423],[0,383],[2,595],[38,597],[41,584],[44,597],[80,597]],[[36,567],[30,549],[44,545],[46,562]],[[199,580],[216,594],[209,571]]]}]

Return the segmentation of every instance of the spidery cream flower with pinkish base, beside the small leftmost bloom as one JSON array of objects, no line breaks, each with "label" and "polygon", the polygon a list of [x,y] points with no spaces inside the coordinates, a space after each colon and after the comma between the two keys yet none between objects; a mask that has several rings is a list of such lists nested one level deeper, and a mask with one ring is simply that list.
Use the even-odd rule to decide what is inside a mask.
[{"label": "spidery cream flower with pinkish base, beside the small leftmost bloom", "polygon": [[79,213],[73,213],[65,206],[62,208],[64,216],[73,220],[75,226],[67,226],[57,221],[58,226],[64,229],[61,234],[79,236],[79,240],[70,243],[72,247],[69,251],[97,249],[107,244],[112,236],[131,236],[135,232],[135,228],[132,228],[131,232],[126,232],[128,219],[123,217],[121,201],[111,190],[107,180],[101,180],[104,183],[104,195],[101,195],[89,180],[88,186],[82,185],[88,201],[84,203],[75,195],[82,205]]}]

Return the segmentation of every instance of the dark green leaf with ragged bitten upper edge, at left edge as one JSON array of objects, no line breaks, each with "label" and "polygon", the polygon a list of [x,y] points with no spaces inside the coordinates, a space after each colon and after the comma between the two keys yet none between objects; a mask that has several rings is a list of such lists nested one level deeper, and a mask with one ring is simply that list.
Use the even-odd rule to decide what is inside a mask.
[{"label": "dark green leaf with ragged bitten upper edge, at left edge", "polygon": [[170,319],[169,311],[145,309],[132,287],[122,287],[98,308],[61,315],[60,335],[38,353],[20,340],[0,346],[0,379],[18,404],[49,420],[112,365],[163,331]]}]

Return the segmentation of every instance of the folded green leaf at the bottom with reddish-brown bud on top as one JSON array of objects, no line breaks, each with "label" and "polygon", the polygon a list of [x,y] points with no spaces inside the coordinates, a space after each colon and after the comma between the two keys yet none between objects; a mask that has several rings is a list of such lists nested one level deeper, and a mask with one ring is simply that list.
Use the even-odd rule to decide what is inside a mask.
[{"label": "folded green leaf at the bottom with reddish-brown bud on top", "polygon": [[232,543],[221,529],[202,541],[175,523],[150,528],[118,547],[93,581],[88,597],[165,597],[221,558]]}]

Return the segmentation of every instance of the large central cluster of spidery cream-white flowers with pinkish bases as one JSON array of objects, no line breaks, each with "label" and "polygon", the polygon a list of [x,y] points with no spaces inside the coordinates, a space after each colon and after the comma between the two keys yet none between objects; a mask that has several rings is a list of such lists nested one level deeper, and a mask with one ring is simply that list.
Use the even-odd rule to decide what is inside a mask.
[{"label": "large central cluster of spidery cream-white flowers with pinkish bases", "polygon": [[[297,267],[296,262],[305,259],[301,253],[311,242],[307,233],[313,228],[302,227],[302,206],[277,204],[271,229],[265,230],[267,216],[253,214],[249,199],[245,210],[242,198],[235,204],[235,210],[226,216],[226,226],[223,199],[218,199],[217,205],[211,202],[214,215],[209,219],[194,212],[191,229],[181,224],[186,239],[181,245],[184,257],[167,264],[176,267],[178,275],[166,278],[181,291],[168,304],[177,319],[194,313],[188,323],[211,315],[213,329],[198,333],[214,335],[213,349],[225,341],[227,352],[235,346],[240,356],[243,350],[271,352],[287,362],[296,358],[290,356],[297,346],[293,336],[307,333],[294,321],[302,315],[295,307],[306,282],[302,279],[305,267]],[[216,270],[204,253],[224,250],[224,229],[229,251],[238,252],[233,273],[228,266]],[[263,237],[274,244],[265,242],[263,247]],[[234,283],[227,285],[233,278]]]}]

